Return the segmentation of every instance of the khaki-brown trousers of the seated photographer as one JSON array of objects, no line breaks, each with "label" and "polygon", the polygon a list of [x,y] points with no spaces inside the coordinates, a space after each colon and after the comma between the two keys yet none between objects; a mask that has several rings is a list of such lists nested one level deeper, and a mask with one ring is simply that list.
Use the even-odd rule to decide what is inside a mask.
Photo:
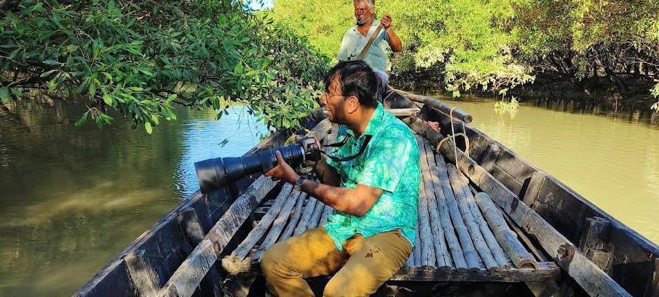
[{"label": "khaki-brown trousers of the seated photographer", "polygon": [[307,230],[267,249],[261,269],[278,295],[314,296],[304,278],[334,274],[323,296],[369,296],[391,278],[410,257],[412,246],[400,229],[360,234],[343,242],[338,251],[323,227]]}]

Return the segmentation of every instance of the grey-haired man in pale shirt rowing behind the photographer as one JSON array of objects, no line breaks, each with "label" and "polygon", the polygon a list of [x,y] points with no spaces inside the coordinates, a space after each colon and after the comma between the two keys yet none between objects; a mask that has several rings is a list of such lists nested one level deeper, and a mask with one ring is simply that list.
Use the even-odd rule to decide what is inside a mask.
[{"label": "grey-haired man in pale shirt rowing behind the photographer", "polygon": [[361,50],[375,33],[375,29],[382,23],[383,30],[379,32],[363,60],[372,68],[386,71],[386,49],[391,48],[394,52],[403,50],[401,39],[391,27],[391,15],[385,14],[381,21],[374,19],[375,0],[354,0],[353,5],[357,23],[343,35],[341,48],[338,49],[336,58],[338,61],[357,59]]}]

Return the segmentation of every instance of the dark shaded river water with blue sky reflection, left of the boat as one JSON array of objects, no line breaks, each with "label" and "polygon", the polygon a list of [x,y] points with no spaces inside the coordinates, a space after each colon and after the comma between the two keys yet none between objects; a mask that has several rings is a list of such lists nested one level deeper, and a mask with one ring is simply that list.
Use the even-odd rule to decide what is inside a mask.
[{"label": "dark shaded river water with blue sky reflection, left of the boat", "polygon": [[73,128],[81,113],[37,95],[0,106],[0,296],[72,294],[198,189],[193,162],[242,155],[267,133],[242,106],[220,121],[178,108],[153,135]]}]

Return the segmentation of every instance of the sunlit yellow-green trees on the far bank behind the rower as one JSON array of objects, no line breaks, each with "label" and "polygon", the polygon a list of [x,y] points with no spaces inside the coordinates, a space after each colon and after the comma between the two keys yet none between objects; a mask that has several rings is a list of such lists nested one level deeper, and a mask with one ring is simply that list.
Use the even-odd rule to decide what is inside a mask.
[{"label": "sunlit yellow-green trees on the far bank behind the rower", "polygon": [[[456,96],[533,83],[541,72],[612,85],[624,75],[659,79],[656,0],[377,1],[385,12],[405,47],[392,72],[430,70]],[[271,15],[330,56],[354,25],[349,0],[276,0]]]}]

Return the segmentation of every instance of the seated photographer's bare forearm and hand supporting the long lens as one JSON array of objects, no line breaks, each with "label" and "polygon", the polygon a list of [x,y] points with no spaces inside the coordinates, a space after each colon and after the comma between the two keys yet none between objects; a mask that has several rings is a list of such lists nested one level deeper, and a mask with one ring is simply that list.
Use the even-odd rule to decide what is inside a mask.
[{"label": "seated photographer's bare forearm and hand supporting the long lens", "polygon": [[[286,164],[279,151],[277,151],[276,155],[278,161],[277,166],[264,173],[264,175],[285,180],[291,184],[297,182],[300,175],[289,164]],[[318,165],[320,166],[323,163],[325,166],[329,166],[326,162],[321,162]],[[302,189],[305,193],[314,196],[330,207],[360,218],[373,207],[373,204],[375,204],[383,192],[382,189],[363,184],[357,184],[354,189],[347,189],[321,184],[313,180],[305,180],[302,184]]]}]

